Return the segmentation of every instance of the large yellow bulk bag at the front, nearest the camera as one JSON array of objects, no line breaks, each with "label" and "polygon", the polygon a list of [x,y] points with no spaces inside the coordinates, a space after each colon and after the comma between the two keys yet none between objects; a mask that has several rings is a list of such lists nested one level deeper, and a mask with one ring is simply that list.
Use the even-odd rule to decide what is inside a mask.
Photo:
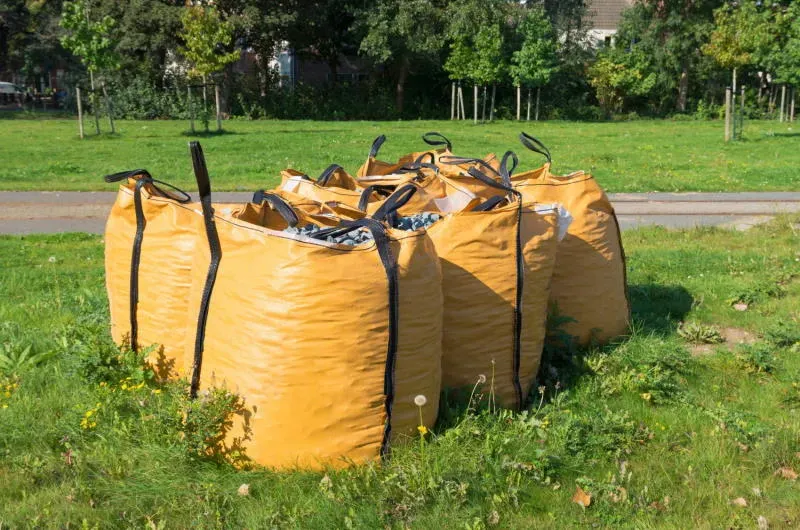
[{"label": "large yellow bulk bag at the front, nearest the camera", "polygon": [[436,420],[441,271],[424,232],[349,222],[374,241],[328,243],[214,213],[192,143],[208,243],[195,247],[192,390],[225,386],[250,414],[231,438],[273,468],[341,467]]}]

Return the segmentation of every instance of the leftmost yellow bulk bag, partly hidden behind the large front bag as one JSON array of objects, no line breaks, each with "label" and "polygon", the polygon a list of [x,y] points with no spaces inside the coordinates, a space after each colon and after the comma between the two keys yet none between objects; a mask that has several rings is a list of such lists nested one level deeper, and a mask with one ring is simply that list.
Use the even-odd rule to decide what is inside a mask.
[{"label": "leftmost yellow bulk bag, partly hidden behind the large front bag", "polygon": [[[187,314],[191,267],[198,234],[203,231],[200,205],[185,192],[153,179],[144,169],[105,177],[121,182],[105,230],[105,271],[115,342],[126,338],[131,348],[155,346],[151,362],[162,377],[187,375],[187,342],[194,340],[194,318]],[[167,191],[164,187],[172,188]],[[270,203],[254,212],[241,204],[219,204],[236,217],[285,228],[289,222]],[[294,215],[290,212],[291,215]],[[300,214],[302,216],[302,214]],[[336,224],[328,218],[303,222]],[[295,218],[297,224],[301,220]]]}]

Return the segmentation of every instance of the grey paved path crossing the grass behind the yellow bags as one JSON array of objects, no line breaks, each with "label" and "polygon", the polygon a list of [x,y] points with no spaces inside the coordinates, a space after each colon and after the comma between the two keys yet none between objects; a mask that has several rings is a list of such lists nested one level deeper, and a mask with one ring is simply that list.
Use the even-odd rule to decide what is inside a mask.
[{"label": "grey paved path crossing the grass behind the yellow bags", "polygon": [[[114,192],[0,192],[0,234],[102,233]],[[219,202],[245,202],[251,193],[215,193]],[[622,229],[728,226],[747,229],[778,213],[800,212],[800,193],[617,193],[611,201]]]}]

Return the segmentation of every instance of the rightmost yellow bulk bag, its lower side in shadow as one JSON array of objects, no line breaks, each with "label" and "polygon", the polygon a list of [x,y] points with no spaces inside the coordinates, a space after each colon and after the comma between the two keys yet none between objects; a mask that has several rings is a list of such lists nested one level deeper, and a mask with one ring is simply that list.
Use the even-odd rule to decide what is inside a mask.
[{"label": "rightmost yellow bulk bag, its lower side in shadow", "polygon": [[549,150],[525,133],[520,141],[543,154],[547,163],[513,175],[514,189],[526,200],[562,204],[573,218],[558,247],[551,286],[557,312],[575,319],[565,331],[580,344],[625,334],[630,320],[625,251],[611,202],[591,175],[553,175]]}]

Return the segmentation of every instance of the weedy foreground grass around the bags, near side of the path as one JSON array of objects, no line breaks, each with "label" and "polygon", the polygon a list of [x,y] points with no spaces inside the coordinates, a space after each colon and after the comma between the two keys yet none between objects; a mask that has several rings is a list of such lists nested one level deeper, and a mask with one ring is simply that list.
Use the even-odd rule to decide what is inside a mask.
[{"label": "weedy foreground grass around the bags, near side of the path", "polygon": [[[34,125],[61,127],[25,124]],[[401,124],[398,136],[408,140],[411,130],[430,125]],[[287,127],[231,124],[240,126],[269,128],[274,138]],[[303,126],[292,125],[295,132]],[[380,130],[346,127],[365,140]],[[566,138],[569,128],[599,136],[627,127],[705,134],[706,126],[542,129],[556,138],[561,127]],[[495,137],[514,129],[465,130]],[[156,151],[170,143],[168,136],[152,139]],[[210,157],[227,152],[233,164],[228,151],[239,138],[250,137],[211,140]],[[125,141],[85,145],[112,149]],[[65,143],[79,145],[71,142]],[[301,148],[293,149],[300,156]],[[666,155],[653,151],[652,158],[659,156]],[[168,168],[166,158],[159,160]],[[108,344],[101,239],[0,237],[0,347],[15,358],[30,348],[40,361],[6,366],[17,375],[0,383],[0,527],[756,528],[760,516],[769,528],[796,527],[799,222],[783,218],[747,233],[626,232],[636,319],[629,339],[569,357],[549,351],[542,393],[523,414],[445,406],[434,435],[401,444],[385,466],[327,474],[236,469],[197,457],[192,437],[178,429],[185,406],[180,385],[159,386],[136,359]],[[752,344],[732,344],[733,337]],[[721,338],[728,342],[692,343]],[[588,507],[573,501],[581,491],[591,496]]]}]

